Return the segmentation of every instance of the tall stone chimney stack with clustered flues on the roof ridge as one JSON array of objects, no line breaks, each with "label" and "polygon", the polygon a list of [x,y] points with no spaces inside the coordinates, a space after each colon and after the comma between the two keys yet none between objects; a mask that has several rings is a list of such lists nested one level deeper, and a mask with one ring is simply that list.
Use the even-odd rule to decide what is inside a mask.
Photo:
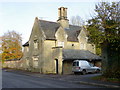
[{"label": "tall stone chimney stack with clustered flues on the roof ridge", "polygon": [[69,20],[67,19],[67,8],[65,8],[65,7],[58,8],[57,22],[60,23],[60,25],[63,28],[69,28]]}]

